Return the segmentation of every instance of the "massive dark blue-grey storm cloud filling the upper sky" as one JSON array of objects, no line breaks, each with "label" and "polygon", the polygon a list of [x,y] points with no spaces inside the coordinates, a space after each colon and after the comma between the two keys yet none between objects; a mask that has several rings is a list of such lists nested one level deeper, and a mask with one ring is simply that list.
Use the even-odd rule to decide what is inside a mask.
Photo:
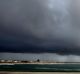
[{"label": "massive dark blue-grey storm cloud filling the upper sky", "polygon": [[77,3],[78,0],[1,0],[1,48],[6,47],[7,51],[11,46],[13,50],[24,47],[32,52],[55,53],[68,53],[71,49],[74,53],[72,49],[80,47]]}]

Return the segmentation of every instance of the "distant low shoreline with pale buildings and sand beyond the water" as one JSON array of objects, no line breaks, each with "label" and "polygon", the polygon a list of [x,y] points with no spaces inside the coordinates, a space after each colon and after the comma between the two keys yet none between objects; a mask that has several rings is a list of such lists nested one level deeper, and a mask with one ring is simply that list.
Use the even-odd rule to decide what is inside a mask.
[{"label": "distant low shoreline with pale buildings and sand beyond the water", "polygon": [[0,64],[79,64],[80,62],[56,62],[56,61],[40,61],[37,59],[36,61],[27,61],[27,60],[0,60]]}]

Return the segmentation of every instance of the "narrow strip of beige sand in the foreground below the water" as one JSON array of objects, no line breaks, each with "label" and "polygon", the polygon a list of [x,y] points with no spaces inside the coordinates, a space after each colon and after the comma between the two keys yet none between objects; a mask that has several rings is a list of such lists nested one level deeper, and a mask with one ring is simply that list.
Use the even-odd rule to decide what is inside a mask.
[{"label": "narrow strip of beige sand in the foreground below the water", "polygon": [[0,72],[0,74],[80,74],[80,72]]}]

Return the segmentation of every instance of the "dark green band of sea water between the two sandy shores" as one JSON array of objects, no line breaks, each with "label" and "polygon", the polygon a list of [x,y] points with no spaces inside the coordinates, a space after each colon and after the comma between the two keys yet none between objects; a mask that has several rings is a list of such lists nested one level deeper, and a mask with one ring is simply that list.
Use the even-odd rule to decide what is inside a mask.
[{"label": "dark green band of sea water between the two sandy shores", "polygon": [[11,72],[80,72],[80,64],[11,64],[0,65],[0,71]]}]

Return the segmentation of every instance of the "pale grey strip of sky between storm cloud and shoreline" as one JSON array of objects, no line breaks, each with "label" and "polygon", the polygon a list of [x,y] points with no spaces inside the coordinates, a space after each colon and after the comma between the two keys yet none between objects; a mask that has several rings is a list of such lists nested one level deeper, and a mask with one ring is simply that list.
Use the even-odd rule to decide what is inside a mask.
[{"label": "pale grey strip of sky between storm cloud and shoreline", "polygon": [[5,60],[29,60],[36,61],[57,61],[57,62],[80,62],[80,56],[58,55],[51,53],[30,54],[30,53],[0,53],[0,59]]}]

